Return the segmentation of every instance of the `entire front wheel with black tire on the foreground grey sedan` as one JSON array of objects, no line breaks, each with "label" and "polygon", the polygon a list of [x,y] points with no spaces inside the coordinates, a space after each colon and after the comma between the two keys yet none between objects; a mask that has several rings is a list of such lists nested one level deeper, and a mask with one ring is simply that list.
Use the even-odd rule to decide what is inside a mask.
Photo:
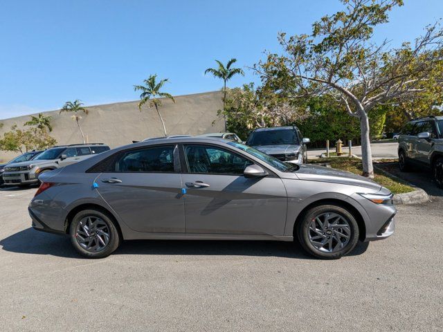
[{"label": "entire front wheel with black tire on the foreground grey sedan", "polygon": [[[312,223],[316,223],[316,218],[327,219],[329,216],[331,216],[331,219],[329,219],[329,221],[331,221],[329,229],[322,232],[323,234],[318,234],[318,230],[314,233],[311,227]],[[336,224],[337,227],[333,224],[334,220],[337,220],[336,216],[342,218],[338,219],[339,221],[337,221],[338,223]],[[343,226],[345,223],[347,225]],[[313,236],[313,234],[316,236]],[[296,225],[296,235],[300,245],[307,253],[309,253],[309,255],[321,259],[338,259],[347,255],[355,248],[359,241],[359,225],[352,213],[345,208],[338,205],[319,205],[309,209],[302,216],[302,219],[298,225]],[[330,245],[328,235],[330,235],[331,238]],[[343,235],[343,237],[341,235]],[[347,239],[345,239],[345,235],[347,235]],[[314,241],[312,238],[314,237],[323,237],[321,241],[326,241],[327,244],[325,244],[325,246],[331,246],[332,251],[325,251],[327,248],[318,248],[317,246],[314,246],[312,243],[312,241]],[[341,243],[339,243],[337,239],[340,240]]]}]

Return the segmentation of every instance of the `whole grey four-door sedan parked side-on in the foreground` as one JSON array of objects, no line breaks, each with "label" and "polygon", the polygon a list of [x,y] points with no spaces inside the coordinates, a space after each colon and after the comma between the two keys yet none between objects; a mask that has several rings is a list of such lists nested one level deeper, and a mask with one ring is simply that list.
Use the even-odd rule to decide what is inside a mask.
[{"label": "whole grey four-door sedan parked side-on in the foreground", "polygon": [[233,141],[126,145],[42,174],[33,228],[107,257],[123,240],[297,241],[337,259],[394,232],[392,194],[362,176],[284,163]]}]

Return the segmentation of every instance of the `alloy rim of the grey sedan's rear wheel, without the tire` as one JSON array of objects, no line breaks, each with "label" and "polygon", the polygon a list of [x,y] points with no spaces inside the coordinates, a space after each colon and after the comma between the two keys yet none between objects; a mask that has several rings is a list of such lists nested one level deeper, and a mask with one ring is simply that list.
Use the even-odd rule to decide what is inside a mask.
[{"label": "alloy rim of the grey sedan's rear wheel, without the tire", "polygon": [[108,224],[97,216],[84,217],[75,230],[75,239],[78,244],[89,252],[99,252],[105,249],[109,238]]}]

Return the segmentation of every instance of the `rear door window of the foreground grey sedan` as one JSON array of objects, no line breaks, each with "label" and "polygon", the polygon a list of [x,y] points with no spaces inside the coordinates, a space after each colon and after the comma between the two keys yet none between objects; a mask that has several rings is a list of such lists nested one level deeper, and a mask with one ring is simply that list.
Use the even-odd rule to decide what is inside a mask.
[{"label": "rear door window of the foreground grey sedan", "polygon": [[113,168],[114,172],[174,172],[174,146],[126,151]]}]

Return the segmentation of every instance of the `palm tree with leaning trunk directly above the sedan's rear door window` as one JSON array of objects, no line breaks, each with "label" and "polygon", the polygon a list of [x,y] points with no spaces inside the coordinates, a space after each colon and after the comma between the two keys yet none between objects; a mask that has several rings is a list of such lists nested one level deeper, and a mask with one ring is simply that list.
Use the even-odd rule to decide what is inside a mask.
[{"label": "palm tree with leaning trunk directly above the sedan's rear door window", "polygon": [[140,102],[138,103],[138,109],[141,111],[141,107],[146,104],[146,102],[150,101],[150,107],[155,107],[157,113],[159,114],[159,118],[161,120],[161,124],[163,124],[163,132],[166,136],[166,127],[163,118],[161,117],[159,106],[161,105],[161,101],[157,99],[161,98],[169,98],[172,102],[175,103],[174,97],[170,93],[160,92],[160,89],[163,87],[165,82],[168,82],[168,79],[160,80],[159,83],[156,82],[157,74],[150,75],[147,77],[147,80],[143,80],[144,85],[134,85],[134,91],[140,90],[143,91],[140,95]]}]

